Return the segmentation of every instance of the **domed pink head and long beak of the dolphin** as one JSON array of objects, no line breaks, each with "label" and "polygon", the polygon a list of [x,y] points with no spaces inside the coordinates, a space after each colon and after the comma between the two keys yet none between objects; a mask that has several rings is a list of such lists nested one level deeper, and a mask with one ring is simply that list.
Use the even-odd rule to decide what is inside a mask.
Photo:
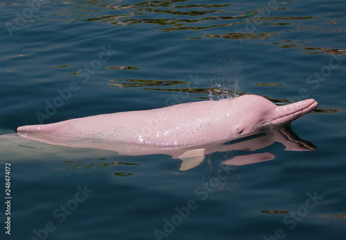
[{"label": "domed pink head and long beak of the dolphin", "polygon": [[232,104],[235,125],[235,136],[248,134],[264,127],[280,126],[298,119],[304,114],[315,110],[318,106],[314,99],[298,101],[284,106],[257,95],[243,95],[230,102]]}]

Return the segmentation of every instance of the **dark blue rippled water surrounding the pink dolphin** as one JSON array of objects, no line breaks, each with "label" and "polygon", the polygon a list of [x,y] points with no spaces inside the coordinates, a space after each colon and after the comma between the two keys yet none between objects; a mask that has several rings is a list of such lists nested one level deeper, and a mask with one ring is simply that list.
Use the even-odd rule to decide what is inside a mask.
[{"label": "dark blue rippled water surrounding the pink dolphin", "polygon": [[1,148],[1,239],[345,238],[345,1],[12,0],[0,26],[3,135],[241,94],[319,103],[291,124],[316,150],[245,166]]}]

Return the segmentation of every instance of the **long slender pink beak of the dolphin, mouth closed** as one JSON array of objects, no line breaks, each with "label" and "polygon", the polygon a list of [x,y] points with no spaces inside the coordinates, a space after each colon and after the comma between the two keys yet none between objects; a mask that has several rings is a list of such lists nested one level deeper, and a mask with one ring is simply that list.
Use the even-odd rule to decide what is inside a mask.
[{"label": "long slender pink beak of the dolphin, mouth closed", "polygon": [[278,126],[302,117],[315,110],[318,106],[318,102],[314,99],[307,99],[304,101],[298,101],[297,103],[291,103],[285,106],[278,106],[273,112],[272,119],[257,124],[256,128],[262,128],[264,126]]}]

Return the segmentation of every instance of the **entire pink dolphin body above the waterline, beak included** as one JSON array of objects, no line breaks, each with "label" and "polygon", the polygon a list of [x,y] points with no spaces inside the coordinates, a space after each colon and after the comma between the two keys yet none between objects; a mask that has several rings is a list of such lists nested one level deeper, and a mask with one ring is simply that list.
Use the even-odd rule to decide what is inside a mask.
[{"label": "entire pink dolphin body above the waterline, beak included", "polygon": [[265,126],[278,126],[315,110],[313,99],[276,106],[257,95],[182,103],[166,108],[100,114],[58,123],[21,126],[21,137],[45,143],[88,148],[131,144],[159,148],[219,143]]}]

